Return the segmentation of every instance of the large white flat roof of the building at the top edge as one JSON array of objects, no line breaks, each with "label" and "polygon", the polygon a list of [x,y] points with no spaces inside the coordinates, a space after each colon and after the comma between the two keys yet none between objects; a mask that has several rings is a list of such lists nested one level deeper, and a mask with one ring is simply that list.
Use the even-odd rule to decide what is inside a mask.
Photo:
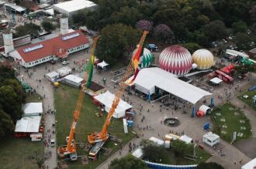
[{"label": "large white flat roof of the building at the top edge", "polygon": [[93,6],[96,6],[94,2],[90,2],[87,0],[73,0],[68,2],[62,2],[53,5],[55,8],[61,8],[67,12],[74,12],[81,10],[83,8],[91,8]]}]

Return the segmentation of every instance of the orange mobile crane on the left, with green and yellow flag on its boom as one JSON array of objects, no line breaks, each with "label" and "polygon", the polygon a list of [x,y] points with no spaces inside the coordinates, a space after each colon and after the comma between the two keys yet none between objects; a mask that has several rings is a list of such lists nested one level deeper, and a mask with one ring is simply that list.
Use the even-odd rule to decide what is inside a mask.
[{"label": "orange mobile crane on the left, with green and yellow flag on its boom", "polygon": [[[96,37],[93,41],[92,44],[92,51],[91,51],[91,58],[94,57],[94,53],[95,53],[95,48],[96,48],[96,44],[98,42],[99,37]],[[74,130],[76,127],[76,124],[78,122],[80,113],[81,113],[81,106],[83,103],[83,100],[85,98],[85,88],[86,88],[86,79],[88,79],[88,73],[85,71],[85,77],[84,80],[81,83],[81,90],[79,92],[78,95],[78,100],[74,109],[74,119],[73,122],[71,124],[71,130],[69,132],[69,136],[66,138],[67,140],[67,145],[63,145],[58,147],[57,149],[57,154],[59,154],[60,157],[65,157],[67,155],[70,156],[71,161],[76,161],[78,159],[78,155],[77,155],[77,148],[76,148],[76,143],[74,140]]]}]

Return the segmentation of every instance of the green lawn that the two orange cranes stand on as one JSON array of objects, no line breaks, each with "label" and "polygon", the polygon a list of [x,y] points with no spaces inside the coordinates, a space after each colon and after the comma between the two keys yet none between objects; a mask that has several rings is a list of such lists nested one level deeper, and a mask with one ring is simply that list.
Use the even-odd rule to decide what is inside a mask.
[{"label": "green lawn that the two orange cranes stand on", "polygon": [[[58,146],[66,144],[65,138],[69,134],[71,121],[73,119],[73,110],[78,98],[78,89],[71,86],[66,86],[61,83],[61,86],[54,92],[54,102],[57,110],[57,144]],[[97,107],[93,104],[91,96],[86,95],[82,106],[80,118],[76,126],[76,142],[87,142],[87,135],[93,131],[99,131],[106,119],[106,113],[103,117],[97,117],[95,113],[99,112]],[[109,133],[116,137],[122,138],[124,143],[127,143],[134,136],[131,134],[123,134],[123,120],[116,120],[112,118],[109,126]],[[118,150],[119,146],[116,146],[114,142],[107,141],[104,147],[113,148],[113,152]],[[88,152],[78,150],[78,155],[88,155]],[[72,161],[69,163],[69,168],[95,168],[102,161],[105,161],[107,157],[100,156],[98,161],[90,161],[90,164],[86,166],[81,165],[81,159],[78,161]]]}]

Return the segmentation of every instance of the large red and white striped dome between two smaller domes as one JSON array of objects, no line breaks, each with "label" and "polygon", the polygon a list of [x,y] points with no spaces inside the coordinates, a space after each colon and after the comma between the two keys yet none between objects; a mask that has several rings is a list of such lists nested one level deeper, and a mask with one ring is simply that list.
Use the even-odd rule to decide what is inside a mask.
[{"label": "large red and white striped dome between two smaller domes", "polygon": [[182,46],[169,46],[161,52],[158,64],[170,73],[185,75],[192,68],[192,56]]}]

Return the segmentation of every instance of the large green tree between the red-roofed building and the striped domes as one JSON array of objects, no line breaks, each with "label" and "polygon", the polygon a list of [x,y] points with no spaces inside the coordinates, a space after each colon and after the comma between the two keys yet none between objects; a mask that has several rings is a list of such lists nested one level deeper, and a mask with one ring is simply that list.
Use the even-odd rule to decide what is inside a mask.
[{"label": "large green tree between the red-roofed building and the striped domes", "polygon": [[115,64],[122,59],[124,52],[135,49],[140,39],[140,31],[123,24],[107,25],[100,32],[96,56],[107,63]]}]

